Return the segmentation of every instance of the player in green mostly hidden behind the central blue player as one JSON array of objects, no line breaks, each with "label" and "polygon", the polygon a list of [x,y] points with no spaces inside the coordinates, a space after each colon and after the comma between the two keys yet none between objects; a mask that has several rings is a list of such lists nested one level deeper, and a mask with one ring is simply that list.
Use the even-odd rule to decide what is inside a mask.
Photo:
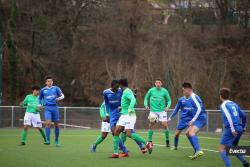
[{"label": "player in green mostly hidden behind the central blue player", "polygon": [[92,145],[91,152],[96,152],[97,146],[101,144],[103,140],[106,139],[106,137],[108,136],[108,133],[110,132],[109,112],[106,112],[104,102],[102,103],[100,107],[100,116],[102,119],[102,127],[101,127],[102,134],[97,137],[95,143]]}]

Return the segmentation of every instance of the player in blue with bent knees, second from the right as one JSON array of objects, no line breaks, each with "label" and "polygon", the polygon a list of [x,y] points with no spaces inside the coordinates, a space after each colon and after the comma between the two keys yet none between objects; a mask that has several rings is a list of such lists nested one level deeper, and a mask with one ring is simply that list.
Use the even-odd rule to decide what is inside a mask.
[{"label": "player in blue with bent knees, second from the right", "polygon": [[170,121],[177,114],[179,109],[181,109],[182,115],[175,134],[174,145],[177,148],[179,135],[183,129],[187,128],[186,136],[195,151],[195,153],[190,156],[193,160],[204,154],[200,149],[197,133],[206,125],[207,115],[200,97],[193,92],[192,85],[188,82],[184,82],[182,84],[182,90],[184,96],[178,100],[168,121]]}]

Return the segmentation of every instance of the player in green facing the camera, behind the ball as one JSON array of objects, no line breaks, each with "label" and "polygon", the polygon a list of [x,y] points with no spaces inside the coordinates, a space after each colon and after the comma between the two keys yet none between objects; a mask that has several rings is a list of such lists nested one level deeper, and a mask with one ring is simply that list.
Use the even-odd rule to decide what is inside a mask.
[{"label": "player in green facing the camera, behind the ball", "polygon": [[[149,103],[149,104],[148,104]],[[144,106],[146,110],[150,110],[150,116],[155,116],[162,123],[164,128],[164,134],[166,138],[166,147],[170,147],[169,144],[169,128],[167,122],[167,112],[171,106],[171,98],[169,96],[168,90],[162,87],[162,81],[160,79],[156,79],[155,87],[149,89],[144,99]],[[151,145],[152,137],[153,137],[153,127],[156,122],[149,123],[148,130],[148,141]]]}]

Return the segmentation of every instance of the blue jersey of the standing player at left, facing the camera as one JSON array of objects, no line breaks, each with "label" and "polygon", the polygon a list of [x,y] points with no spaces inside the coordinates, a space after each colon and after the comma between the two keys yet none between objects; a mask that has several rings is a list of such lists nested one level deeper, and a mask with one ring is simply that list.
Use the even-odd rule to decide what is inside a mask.
[{"label": "blue jersey of the standing player at left, facing the camera", "polygon": [[52,87],[44,87],[40,91],[39,95],[39,104],[43,104],[44,106],[55,106],[57,105],[56,98],[64,98],[64,95],[61,91],[61,89],[57,86]]}]

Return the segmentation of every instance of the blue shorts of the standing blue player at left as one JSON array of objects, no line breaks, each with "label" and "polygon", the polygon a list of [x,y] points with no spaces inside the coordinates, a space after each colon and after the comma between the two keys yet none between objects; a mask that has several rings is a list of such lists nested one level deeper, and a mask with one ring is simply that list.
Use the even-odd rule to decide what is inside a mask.
[{"label": "blue shorts of the standing blue player at left", "polygon": [[44,106],[44,118],[45,120],[51,120],[52,122],[59,122],[59,109],[57,106]]}]

